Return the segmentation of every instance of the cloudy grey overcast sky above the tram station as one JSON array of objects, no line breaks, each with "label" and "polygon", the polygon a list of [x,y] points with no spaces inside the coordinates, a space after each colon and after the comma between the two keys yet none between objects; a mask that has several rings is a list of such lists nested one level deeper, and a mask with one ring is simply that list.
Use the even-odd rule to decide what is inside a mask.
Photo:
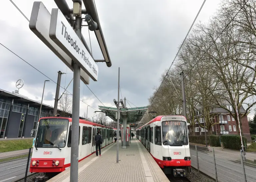
[{"label": "cloudy grey overcast sky above the tram station", "polygon": [[[34,1],[13,2],[30,19]],[[49,12],[57,8],[53,0],[42,2]],[[73,8],[72,0],[67,3]],[[136,106],[146,106],[152,88],[159,85],[161,74],[169,68],[202,3],[203,0],[95,0],[112,67],[98,63],[98,81],[90,80],[88,87],[105,106],[112,106],[113,99],[117,99],[120,67],[122,97],[126,96]],[[196,23],[207,22],[219,3],[220,0],[206,1]],[[9,0],[0,1],[0,7],[4,7],[0,17],[0,43],[55,82],[58,71],[67,72],[61,80],[61,86],[67,86],[73,78],[72,71],[29,29],[29,22]],[[82,28],[82,34],[90,45],[87,27]],[[93,57],[103,59],[94,32],[90,35]],[[44,80],[48,78],[1,45],[0,60],[0,89],[14,91],[15,82],[23,79],[25,84],[20,94],[41,101]],[[67,89],[71,93],[72,84]],[[46,83],[43,103],[53,105],[55,91],[55,83]],[[60,93],[63,91],[61,88]],[[82,81],[80,99],[97,110],[98,105],[102,105]],[[87,105],[80,102],[80,116],[86,109]],[[94,111],[88,107],[88,116],[92,117]]]}]

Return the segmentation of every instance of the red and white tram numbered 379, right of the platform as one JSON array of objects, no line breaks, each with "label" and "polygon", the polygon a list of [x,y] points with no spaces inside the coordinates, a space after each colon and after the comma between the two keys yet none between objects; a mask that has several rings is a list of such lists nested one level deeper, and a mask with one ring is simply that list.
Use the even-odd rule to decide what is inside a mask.
[{"label": "red and white tram numbered 379, right of the platform", "polygon": [[188,125],[184,116],[165,115],[136,129],[136,137],[166,174],[185,177],[191,171]]}]

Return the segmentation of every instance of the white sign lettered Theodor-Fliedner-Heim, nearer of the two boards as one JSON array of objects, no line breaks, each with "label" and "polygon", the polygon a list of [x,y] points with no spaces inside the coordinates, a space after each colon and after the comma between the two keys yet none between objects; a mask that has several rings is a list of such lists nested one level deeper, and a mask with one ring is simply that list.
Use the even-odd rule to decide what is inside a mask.
[{"label": "white sign lettered Theodor-Fliedner-Heim, nearer of the two boards", "polygon": [[52,9],[49,37],[85,71],[92,80],[98,80],[98,66],[76,35],[65,16]]}]

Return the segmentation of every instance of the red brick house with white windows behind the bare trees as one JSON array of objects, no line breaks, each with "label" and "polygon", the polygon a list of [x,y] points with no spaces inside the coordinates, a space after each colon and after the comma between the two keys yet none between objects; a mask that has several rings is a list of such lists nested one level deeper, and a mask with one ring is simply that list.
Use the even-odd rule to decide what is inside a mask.
[{"label": "red brick house with white windows behind the bare trees", "polygon": [[[226,107],[235,114],[234,109],[231,105],[226,105]],[[201,107],[197,107],[198,110],[201,112]],[[204,118],[202,114],[199,111],[196,111],[196,115],[198,117],[198,120],[194,120],[194,135],[204,135],[204,128],[199,125],[199,123],[203,126],[204,125]],[[240,114],[242,115],[245,113],[245,109],[243,107],[240,108]],[[237,128],[235,119],[230,115],[230,113],[221,108],[221,107],[214,107],[210,111],[210,115],[212,119],[214,119],[214,122],[217,123],[211,127],[211,131],[206,130],[206,134],[215,134],[215,135],[223,135],[223,134],[238,134],[239,128]],[[247,115],[242,117],[241,121],[242,123],[242,133],[243,136],[247,138],[248,141],[251,141],[251,134],[249,129],[249,123]],[[190,128],[190,127],[189,127]],[[189,132],[191,133],[191,128],[189,129]]]}]

